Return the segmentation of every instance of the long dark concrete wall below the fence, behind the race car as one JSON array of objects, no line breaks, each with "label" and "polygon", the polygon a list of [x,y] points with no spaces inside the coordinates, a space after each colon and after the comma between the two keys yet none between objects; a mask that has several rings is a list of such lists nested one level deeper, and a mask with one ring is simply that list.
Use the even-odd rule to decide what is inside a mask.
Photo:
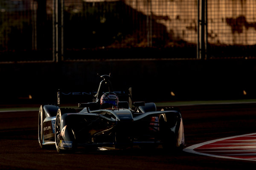
[{"label": "long dark concrete wall below the fence, behind the race car", "polygon": [[0,101],[49,101],[57,89],[96,91],[97,74],[109,73],[114,89],[132,87],[137,100],[256,98],[256,60],[219,59],[1,64]]}]

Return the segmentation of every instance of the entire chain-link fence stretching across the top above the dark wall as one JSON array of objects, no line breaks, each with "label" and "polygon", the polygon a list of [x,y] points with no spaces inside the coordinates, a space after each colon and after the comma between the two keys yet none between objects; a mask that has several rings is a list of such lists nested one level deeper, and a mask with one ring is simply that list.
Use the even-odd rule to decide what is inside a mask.
[{"label": "entire chain-link fence stretching across the top above the dark wall", "polygon": [[[0,61],[56,61],[54,48],[60,40],[61,60],[197,59],[201,2],[0,0]],[[60,3],[63,24],[56,25]],[[256,57],[256,0],[204,3],[205,58]],[[59,41],[56,27],[63,28]]]}]

